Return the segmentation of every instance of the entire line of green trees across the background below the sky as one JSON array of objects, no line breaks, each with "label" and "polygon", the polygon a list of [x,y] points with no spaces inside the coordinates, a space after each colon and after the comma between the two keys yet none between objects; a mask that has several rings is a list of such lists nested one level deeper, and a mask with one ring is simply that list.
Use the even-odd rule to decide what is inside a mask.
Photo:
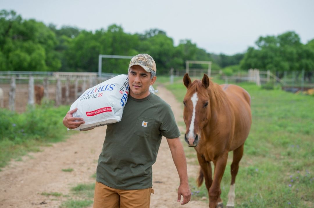
[{"label": "entire line of green trees across the background below the sky", "polygon": [[[95,32],[72,26],[57,28],[35,19],[23,19],[15,11],[0,11],[0,70],[97,72],[99,54],[133,56],[149,53],[158,74],[170,68],[184,69],[186,60],[212,61],[212,69],[231,72],[259,68],[273,72],[314,70],[314,39],[300,42],[295,32],[258,38],[256,47],[232,56],[207,53],[191,40],[173,39],[159,29],[125,33],[112,24]],[[102,72],[126,73],[128,59],[102,60]],[[193,68],[207,68],[195,64]],[[226,70],[227,71],[227,70]]]}]

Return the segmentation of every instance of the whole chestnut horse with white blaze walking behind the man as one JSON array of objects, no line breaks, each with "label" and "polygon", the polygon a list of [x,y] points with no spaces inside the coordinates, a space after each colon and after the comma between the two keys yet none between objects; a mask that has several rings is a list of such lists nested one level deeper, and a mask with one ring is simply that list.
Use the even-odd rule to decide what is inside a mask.
[{"label": "whole chestnut horse with white blaze walking behind the man", "polygon": [[[195,80],[193,83],[185,74],[183,82],[187,87],[183,101],[183,119],[187,126],[185,141],[197,152],[201,166],[198,186],[205,178],[209,207],[223,207],[220,181],[228,152],[233,151],[227,207],[234,207],[236,175],[252,123],[251,97],[239,86],[215,84],[206,74],[202,81]],[[214,177],[210,162],[214,163]]]}]

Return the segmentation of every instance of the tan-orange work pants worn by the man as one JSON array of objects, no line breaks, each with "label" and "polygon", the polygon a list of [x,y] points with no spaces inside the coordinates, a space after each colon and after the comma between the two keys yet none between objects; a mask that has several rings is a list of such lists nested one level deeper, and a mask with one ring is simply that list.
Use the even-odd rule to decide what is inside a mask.
[{"label": "tan-orange work pants worn by the man", "polygon": [[113,189],[96,181],[93,208],[149,208],[154,189]]}]

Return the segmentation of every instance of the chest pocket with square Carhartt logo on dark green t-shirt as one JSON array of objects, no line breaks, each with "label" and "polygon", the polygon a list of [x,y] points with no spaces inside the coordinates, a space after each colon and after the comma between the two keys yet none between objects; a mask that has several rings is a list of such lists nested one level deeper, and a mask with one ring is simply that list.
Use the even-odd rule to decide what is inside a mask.
[{"label": "chest pocket with square Carhartt logo on dark green t-shirt", "polygon": [[140,137],[149,137],[154,129],[155,119],[138,116],[134,125],[134,134]]}]

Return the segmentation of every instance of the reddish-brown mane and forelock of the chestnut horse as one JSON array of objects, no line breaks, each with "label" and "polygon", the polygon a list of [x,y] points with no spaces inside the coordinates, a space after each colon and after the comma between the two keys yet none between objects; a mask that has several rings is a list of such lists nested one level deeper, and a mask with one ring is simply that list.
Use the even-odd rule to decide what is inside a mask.
[{"label": "reddish-brown mane and forelock of the chestnut horse", "polygon": [[[200,93],[206,93],[205,90],[203,90],[204,86],[202,84],[201,80],[195,80],[191,88]],[[209,100],[211,105],[217,105],[216,107],[220,107],[225,103],[225,100],[227,99],[225,92],[223,89],[219,86],[219,84],[214,83],[211,79],[209,79],[209,86],[207,88],[207,94],[209,95]]]}]

